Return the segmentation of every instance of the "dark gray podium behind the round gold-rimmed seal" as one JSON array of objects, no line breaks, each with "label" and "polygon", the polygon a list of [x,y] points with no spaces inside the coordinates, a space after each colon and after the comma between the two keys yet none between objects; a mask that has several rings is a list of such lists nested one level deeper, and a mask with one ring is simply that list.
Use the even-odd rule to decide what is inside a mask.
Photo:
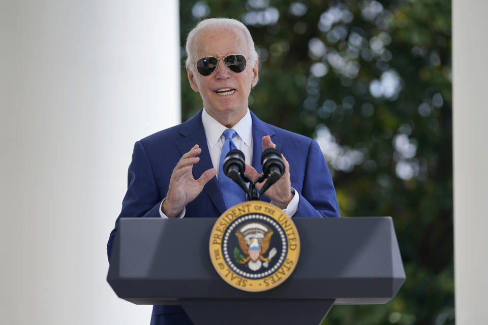
[{"label": "dark gray podium behind the round gold-rimmed seal", "polygon": [[384,304],[405,281],[390,217],[296,218],[298,264],[280,286],[238,290],[211,265],[215,218],[120,219],[107,281],[139,305],[179,304],[199,324],[313,324],[333,304]]}]

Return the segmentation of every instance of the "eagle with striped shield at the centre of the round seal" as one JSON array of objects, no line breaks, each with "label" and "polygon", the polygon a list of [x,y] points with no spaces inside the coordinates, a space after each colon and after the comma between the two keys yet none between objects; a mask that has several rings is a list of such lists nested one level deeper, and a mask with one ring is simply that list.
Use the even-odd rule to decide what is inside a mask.
[{"label": "eagle with striped shield at the centre of the round seal", "polygon": [[234,249],[234,258],[237,263],[247,263],[248,268],[252,271],[269,266],[277,249],[271,248],[267,257],[264,257],[269,249],[271,236],[273,236],[273,232],[266,225],[260,222],[244,224],[236,231],[235,236],[237,236],[240,247],[240,251],[237,247]]}]

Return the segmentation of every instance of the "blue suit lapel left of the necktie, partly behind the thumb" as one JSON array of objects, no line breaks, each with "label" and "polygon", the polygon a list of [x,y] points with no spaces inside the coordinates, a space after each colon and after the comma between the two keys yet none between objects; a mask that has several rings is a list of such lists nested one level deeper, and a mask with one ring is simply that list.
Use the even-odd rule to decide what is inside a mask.
[{"label": "blue suit lapel left of the necktie, partly behind the thumb", "polygon": [[[210,153],[208,151],[207,139],[205,137],[205,130],[202,124],[201,110],[185,123],[185,126],[181,128],[180,134],[183,136],[183,138],[176,142],[176,146],[178,147],[181,155],[184,155],[186,152],[190,151],[195,144],[198,144],[198,146],[202,149],[202,152],[198,155],[200,157],[200,161],[193,165],[192,170],[193,177],[198,179],[206,170],[214,168],[210,158]],[[217,177],[212,177],[212,179],[205,184],[203,190],[210,197],[210,200],[214,203],[219,212],[221,214],[224,213],[226,208]]]}]

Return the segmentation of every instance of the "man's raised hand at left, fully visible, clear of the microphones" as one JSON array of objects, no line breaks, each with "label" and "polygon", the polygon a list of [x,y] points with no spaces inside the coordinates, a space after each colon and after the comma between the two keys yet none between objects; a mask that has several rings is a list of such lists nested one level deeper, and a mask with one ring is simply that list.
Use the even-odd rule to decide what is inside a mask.
[{"label": "man's raised hand at left, fully visible, clear of the microphones", "polygon": [[188,203],[195,200],[202,191],[203,186],[217,174],[217,170],[211,168],[205,171],[199,179],[195,180],[193,178],[193,165],[200,160],[197,157],[200,152],[202,152],[202,149],[196,144],[190,151],[181,156],[178,164],[173,169],[166,200],[161,207],[161,210],[168,218],[176,217]]}]

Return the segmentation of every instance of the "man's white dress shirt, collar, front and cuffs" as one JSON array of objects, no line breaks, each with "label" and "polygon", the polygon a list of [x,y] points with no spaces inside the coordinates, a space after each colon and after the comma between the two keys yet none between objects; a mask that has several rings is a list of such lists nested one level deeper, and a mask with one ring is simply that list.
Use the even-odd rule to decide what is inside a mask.
[{"label": "man's white dress shirt, collar, front and cuffs", "polygon": [[[212,165],[214,165],[214,168],[217,170],[216,177],[218,178],[220,154],[222,152],[222,146],[224,145],[225,141],[223,133],[227,129],[227,127],[222,125],[215,118],[208,115],[208,113],[205,111],[205,108],[202,111],[202,123],[203,129],[205,131],[205,137],[207,138],[207,146],[210,153],[210,159],[212,160]],[[251,118],[249,108],[246,115],[244,115],[244,117],[242,117],[232,128],[237,133],[237,135],[232,139],[232,142],[235,144],[237,149],[242,151],[242,153],[246,157],[246,164],[251,165],[253,161],[253,120]],[[293,199],[290,201],[286,209],[282,210],[289,217],[292,217],[295,214],[296,210],[298,210],[298,202],[300,200],[298,192],[295,189],[293,189],[293,191],[295,192]],[[164,200],[166,200],[166,198]],[[161,202],[159,214],[162,218],[168,218],[162,211],[164,200]],[[181,213],[176,217],[184,217],[185,211],[186,209],[183,208]]]}]

